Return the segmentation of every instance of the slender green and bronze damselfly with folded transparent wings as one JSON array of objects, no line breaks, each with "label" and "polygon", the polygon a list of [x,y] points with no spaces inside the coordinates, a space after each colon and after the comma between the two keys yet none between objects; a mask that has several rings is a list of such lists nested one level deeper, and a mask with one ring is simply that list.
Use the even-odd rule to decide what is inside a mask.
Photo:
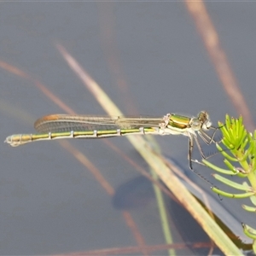
[{"label": "slender green and bronze damselfly with folded transparent wings", "polygon": [[[6,138],[5,143],[16,147],[26,143],[61,138],[102,138],[126,135],[184,135],[189,137],[189,167],[192,169],[192,150],[194,141],[205,158],[198,141],[210,144],[214,140],[217,128],[212,126],[209,115],[201,111],[197,117],[189,118],[176,113],[167,113],[164,117],[104,117],[88,115],[52,114],[38,119],[34,125],[38,134],[15,134]],[[212,136],[206,131],[214,130]]]}]

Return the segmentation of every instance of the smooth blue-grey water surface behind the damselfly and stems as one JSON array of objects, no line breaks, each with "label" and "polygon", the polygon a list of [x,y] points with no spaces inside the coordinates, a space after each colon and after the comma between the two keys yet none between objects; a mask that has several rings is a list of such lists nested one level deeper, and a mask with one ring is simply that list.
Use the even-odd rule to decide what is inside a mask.
[{"label": "smooth blue-grey water surface behind the damselfly and stems", "polygon": [[[206,7],[255,121],[256,5],[207,2]],[[196,115],[207,110],[215,125],[224,121],[225,113],[238,116],[185,3],[1,3],[0,34],[2,142],[14,133],[34,132],[33,122],[45,114],[65,113],[34,81],[76,113],[104,114],[56,44],[79,61],[125,114]],[[165,155],[187,166],[185,137],[156,139]],[[108,140],[148,169],[124,137]],[[102,172],[113,194],[125,193],[113,200],[88,168],[56,141],[18,148],[2,143],[0,254],[137,247],[124,209],[145,244],[165,244],[152,188],[138,178],[136,168],[104,140],[70,143]],[[201,170],[210,176],[207,168]],[[127,183],[131,187],[122,190]],[[209,184],[205,188],[212,193]],[[183,242],[176,232],[176,241]],[[184,246],[177,254],[186,250]]]}]

